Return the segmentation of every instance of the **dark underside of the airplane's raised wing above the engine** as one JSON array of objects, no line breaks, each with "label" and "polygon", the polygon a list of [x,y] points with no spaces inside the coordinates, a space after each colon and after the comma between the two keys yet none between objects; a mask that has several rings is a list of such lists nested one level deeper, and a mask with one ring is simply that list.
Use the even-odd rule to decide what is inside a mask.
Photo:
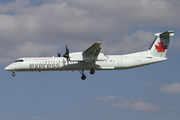
[{"label": "dark underside of the airplane's raised wing above the engine", "polygon": [[101,42],[94,43],[91,47],[85,50],[83,54],[98,56],[99,53],[101,52],[101,47],[100,47],[101,44],[102,44]]}]

